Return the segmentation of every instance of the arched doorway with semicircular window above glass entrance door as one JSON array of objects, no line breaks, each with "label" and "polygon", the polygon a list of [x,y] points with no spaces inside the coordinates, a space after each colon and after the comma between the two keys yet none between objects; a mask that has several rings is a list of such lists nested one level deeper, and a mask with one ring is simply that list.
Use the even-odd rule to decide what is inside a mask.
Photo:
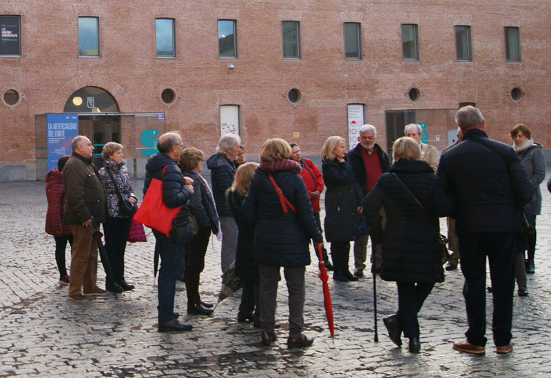
[{"label": "arched doorway with semicircular window above glass entrance door", "polygon": [[79,135],[85,135],[94,145],[94,164],[103,166],[101,150],[105,143],[121,143],[121,116],[112,95],[98,87],[83,87],[73,92],[65,102],[65,113],[79,115]]}]

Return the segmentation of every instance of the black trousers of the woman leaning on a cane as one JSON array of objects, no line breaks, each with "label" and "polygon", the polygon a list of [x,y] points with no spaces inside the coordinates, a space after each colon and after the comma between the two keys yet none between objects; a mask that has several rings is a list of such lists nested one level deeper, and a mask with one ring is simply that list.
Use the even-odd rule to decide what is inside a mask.
[{"label": "black trousers of the woman leaning on a cane", "polygon": [[398,320],[405,337],[419,337],[419,321],[417,313],[433,290],[434,283],[417,282],[396,283],[398,286]]}]

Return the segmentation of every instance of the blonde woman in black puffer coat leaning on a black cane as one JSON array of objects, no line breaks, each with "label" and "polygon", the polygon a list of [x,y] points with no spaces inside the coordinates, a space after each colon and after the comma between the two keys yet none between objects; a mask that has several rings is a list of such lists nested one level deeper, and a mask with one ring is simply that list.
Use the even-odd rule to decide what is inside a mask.
[{"label": "blonde woman in black puffer coat leaning on a black cane", "polygon": [[[379,178],[363,203],[373,242],[382,242],[381,278],[396,281],[398,286],[398,311],[383,319],[384,324],[397,346],[402,345],[404,331],[404,336],[410,339],[410,352],[419,352],[417,312],[435,282],[444,281],[438,217],[446,217],[453,211],[451,196],[439,177],[428,163],[419,159],[421,150],[415,139],[396,139],[395,163]],[[386,214],[384,232],[381,206]]]}]

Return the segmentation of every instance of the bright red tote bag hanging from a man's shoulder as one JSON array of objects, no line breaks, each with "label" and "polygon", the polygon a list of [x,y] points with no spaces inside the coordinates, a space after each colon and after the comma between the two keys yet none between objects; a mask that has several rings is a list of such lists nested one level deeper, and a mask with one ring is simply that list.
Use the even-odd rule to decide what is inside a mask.
[{"label": "bright red tote bag hanging from a man's shoulder", "polygon": [[134,220],[145,224],[147,227],[151,227],[158,232],[162,232],[169,237],[169,232],[172,228],[172,220],[176,218],[176,214],[182,208],[169,208],[163,202],[163,176],[165,175],[165,169],[163,168],[163,175],[161,179],[152,179],[149,183],[149,188],[143,197],[142,204],[136,214],[134,214]]}]

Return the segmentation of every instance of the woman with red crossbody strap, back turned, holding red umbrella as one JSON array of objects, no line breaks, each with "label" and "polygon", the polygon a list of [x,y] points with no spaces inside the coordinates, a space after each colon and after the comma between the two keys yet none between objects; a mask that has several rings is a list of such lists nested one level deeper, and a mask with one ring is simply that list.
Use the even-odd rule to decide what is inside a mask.
[{"label": "woman with red crossbody strap, back turned, holding red umbrella", "polygon": [[289,292],[289,348],[311,346],[304,328],[304,271],[310,263],[309,241],[322,243],[300,164],[289,159],[291,147],[283,139],[264,142],[260,166],[251,179],[242,216],[254,223],[253,252],[260,274],[260,327],[264,345],[275,341],[275,304],[283,267]]}]

